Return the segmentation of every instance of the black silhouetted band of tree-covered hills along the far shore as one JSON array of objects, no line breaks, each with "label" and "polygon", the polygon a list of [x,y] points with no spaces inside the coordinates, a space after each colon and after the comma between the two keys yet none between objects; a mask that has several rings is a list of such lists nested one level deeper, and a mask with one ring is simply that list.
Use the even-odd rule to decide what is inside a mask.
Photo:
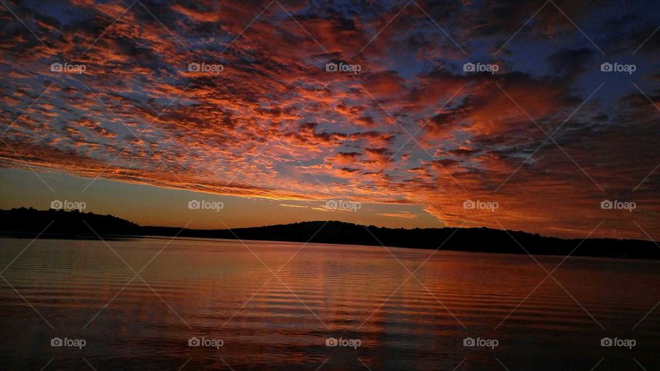
[{"label": "black silhouetted band of tree-covered hills along the far shore", "polygon": [[[481,228],[385,228],[356,225],[340,221],[309,221],[285,225],[269,225],[236,229],[182,229],[177,227],[142,227],[112,215],[61,210],[35,210],[21,207],[0,210],[0,232],[34,235],[49,223],[43,236],[75,236],[104,238],[124,236],[175,236],[225,238],[242,240],[274,240],[343,245],[385,245],[444,250],[480,251],[507,254],[560,255],[608,258],[660,259],[660,247],[647,240],[613,238],[563,239],[518,231]],[[85,224],[89,225],[89,227]],[[91,229],[90,229],[91,227]],[[94,232],[92,231],[94,229]],[[450,238],[451,236],[451,238]],[[511,238],[513,236],[513,238]],[[448,239],[449,238],[449,239]],[[514,240],[515,238],[515,240]],[[516,242],[517,241],[517,242]],[[523,249],[522,247],[525,247]],[[580,245],[581,244],[581,245]],[[578,247],[579,245],[579,247]]]}]

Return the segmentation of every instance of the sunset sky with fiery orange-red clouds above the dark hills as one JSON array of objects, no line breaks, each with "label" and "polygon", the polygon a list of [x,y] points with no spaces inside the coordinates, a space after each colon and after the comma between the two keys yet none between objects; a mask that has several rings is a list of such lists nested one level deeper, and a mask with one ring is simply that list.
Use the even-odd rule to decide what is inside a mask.
[{"label": "sunset sky with fiery orange-red clouds above the dark hills", "polygon": [[660,240],[657,2],[2,5],[1,208]]}]

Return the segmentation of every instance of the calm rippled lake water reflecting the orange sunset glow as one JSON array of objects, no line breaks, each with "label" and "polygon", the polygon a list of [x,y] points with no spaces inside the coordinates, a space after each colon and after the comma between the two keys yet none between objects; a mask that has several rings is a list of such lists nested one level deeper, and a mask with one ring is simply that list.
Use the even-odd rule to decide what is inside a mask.
[{"label": "calm rippled lake water reflecting the orange sunset glow", "polygon": [[[168,241],[108,241],[115,254],[101,241],[36,240],[0,280],[0,369],[659,368],[660,306],[640,322],[660,300],[659,262],[571,257],[553,273],[560,286],[526,255]],[[4,269],[30,240],[0,243]],[[536,258],[548,271],[562,260]],[[421,267],[410,277],[397,259]]]}]

